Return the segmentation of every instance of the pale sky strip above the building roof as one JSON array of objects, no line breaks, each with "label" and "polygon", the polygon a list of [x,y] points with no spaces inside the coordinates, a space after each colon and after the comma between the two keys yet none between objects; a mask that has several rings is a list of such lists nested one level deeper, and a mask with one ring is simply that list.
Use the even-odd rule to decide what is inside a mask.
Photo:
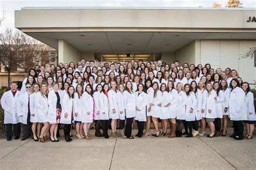
[{"label": "pale sky strip above the building roof", "polygon": [[[228,0],[0,0],[0,18],[5,19],[1,23],[0,32],[6,28],[14,29],[14,11],[23,7],[43,6],[154,6],[154,7],[212,7],[219,3],[225,7]],[[244,8],[256,8],[256,0],[240,0]]]}]

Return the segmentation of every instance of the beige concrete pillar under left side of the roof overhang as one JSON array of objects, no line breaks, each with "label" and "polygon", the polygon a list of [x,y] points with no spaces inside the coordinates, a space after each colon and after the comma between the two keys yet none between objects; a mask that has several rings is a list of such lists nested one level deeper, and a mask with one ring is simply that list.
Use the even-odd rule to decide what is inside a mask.
[{"label": "beige concrete pillar under left side of the roof overhang", "polygon": [[59,62],[63,63],[73,61],[76,64],[82,57],[82,53],[78,49],[63,39],[59,39],[58,41],[58,55]]}]

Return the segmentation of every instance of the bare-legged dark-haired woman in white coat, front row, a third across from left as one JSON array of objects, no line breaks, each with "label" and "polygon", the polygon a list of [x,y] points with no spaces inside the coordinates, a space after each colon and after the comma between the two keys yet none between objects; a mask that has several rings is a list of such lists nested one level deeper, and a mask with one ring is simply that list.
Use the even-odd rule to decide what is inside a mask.
[{"label": "bare-legged dark-haired woman in white coat, front row, a third across from left", "polygon": [[85,91],[82,95],[82,123],[84,123],[84,138],[86,140],[91,140],[90,135],[88,134],[88,131],[90,129],[91,123],[93,122],[93,115],[94,113],[94,104],[95,100],[93,98],[93,88],[91,84],[87,84],[85,87]]}]

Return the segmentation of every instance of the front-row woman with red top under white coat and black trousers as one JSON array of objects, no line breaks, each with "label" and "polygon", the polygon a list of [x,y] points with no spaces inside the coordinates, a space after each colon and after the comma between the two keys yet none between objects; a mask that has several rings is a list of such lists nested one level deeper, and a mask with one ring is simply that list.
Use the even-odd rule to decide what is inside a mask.
[{"label": "front-row woman with red top under white coat and black trousers", "polygon": [[109,91],[109,83],[103,84],[102,92],[100,93],[99,98],[99,106],[100,106],[100,121],[102,122],[102,130],[104,138],[109,138],[109,95],[107,93]]}]

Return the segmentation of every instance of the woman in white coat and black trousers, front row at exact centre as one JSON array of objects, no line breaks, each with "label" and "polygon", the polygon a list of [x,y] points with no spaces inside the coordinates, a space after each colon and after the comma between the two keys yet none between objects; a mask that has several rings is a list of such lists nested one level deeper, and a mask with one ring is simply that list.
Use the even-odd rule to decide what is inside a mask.
[{"label": "woman in white coat and black trousers, front row at exact centre", "polygon": [[132,121],[136,114],[136,103],[131,81],[125,83],[124,109],[126,115],[125,136],[126,138],[134,139],[132,136]]}]

